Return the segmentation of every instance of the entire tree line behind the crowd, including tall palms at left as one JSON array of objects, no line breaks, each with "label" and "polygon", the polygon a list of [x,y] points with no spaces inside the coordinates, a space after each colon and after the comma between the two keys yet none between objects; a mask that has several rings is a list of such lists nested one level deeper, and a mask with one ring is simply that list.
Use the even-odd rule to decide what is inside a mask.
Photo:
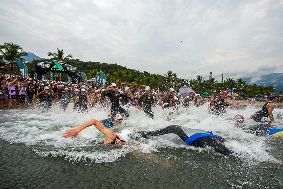
[{"label": "entire tree line behind the crowd, including tall palms at left", "polygon": [[[24,60],[22,56],[27,56],[27,53],[23,51],[22,47],[18,44],[12,42],[4,43],[0,46],[1,54],[0,56],[0,69],[7,71],[7,68],[4,67],[4,61],[9,61],[11,64],[10,72],[13,73],[14,61],[15,58]],[[118,65],[116,63],[100,63],[92,61],[80,61],[79,59],[70,59],[73,58],[71,54],[68,54],[64,57],[64,51],[57,48],[57,52],[47,53],[48,56],[52,58],[44,58],[41,60],[33,60],[29,63],[26,63],[29,71],[35,68],[35,65],[38,61],[52,61],[59,60],[64,61],[67,64],[70,64],[74,67],[77,67],[78,71],[84,72],[87,75],[87,78],[93,78],[97,75],[98,72],[102,71],[105,73],[106,80],[109,82],[115,82],[118,85],[121,85],[122,82],[133,83],[132,85],[148,85],[151,88],[159,88],[160,90],[169,90],[173,87],[175,90],[178,90],[182,86],[186,85],[192,88],[197,93],[209,93],[212,94],[213,90],[220,91],[221,89],[231,89],[234,93],[239,94],[242,97],[255,97],[256,95],[269,95],[275,92],[273,86],[263,87],[257,86],[256,84],[248,85],[246,81],[242,78],[234,80],[233,78],[226,78],[223,82],[218,82],[213,78],[212,72],[210,72],[209,79],[205,80],[203,76],[198,75],[195,79],[182,79],[177,76],[173,71],[167,71],[164,75],[159,74],[150,74],[147,71],[140,72],[135,69],[127,68],[125,66]],[[2,65],[3,64],[3,65]],[[59,78],[58,78],[59,79]],[[61,75],[62,81],[67,81],[67,74]],[[131,85],[131,84],[129,84]],[[283,93],[283,89],[280,92]]]}]

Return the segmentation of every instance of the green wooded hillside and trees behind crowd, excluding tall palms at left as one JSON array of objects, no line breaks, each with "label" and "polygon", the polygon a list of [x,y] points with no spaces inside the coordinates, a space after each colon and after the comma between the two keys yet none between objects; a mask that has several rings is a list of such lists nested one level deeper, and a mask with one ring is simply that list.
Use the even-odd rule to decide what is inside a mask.
[{"label": "green wooded hillside and trees behind crowd, excluding tall palms at left", "polygon": [[[30,68],[34,68],[37,61],[51,61],[52,59],[43,59],[43,60],[34,60],[31,63],[28,63]],[[160,87],[160,90],[167,91],[171,87],[175,90],[178,90],[185,84],[192,88],[197,93],[207,92],[212,94],[213,90],[220,91],[222,88],[230,88],[233,89],[233,92],[239,94],[243,97],[255,97],[258,94],[261,95],[269,95],[274,93],[274,88],[270,87],[262,87],[257,86],[256,84],[247,85],[246,81],[242,78],[237,79],[236,81],[233,78],[226,78],[223,83],[218,83],[215,78],[212,77],[212,73],[210,74],[209,80],[205,80],[201,75],[196,76],[196,79],[182,79],[177,76],[173,71],[168,71],[164,76],[150,74],[147,71],[137,71],[134,69],[127,68],[125,66],[121,66],[118,64],[111,63],[100,63],[100,62],[83,62],[79,59],[65,59],[67,64],[70,64],[74,67],[77,67],[78,70],[86,73],[89,78],[96,76],[98,70],[105,73],[106,80],[110,83],[116,82],[118,85],[121,82],[134,82],[137,85],[148,85],[151,88]],[[29,69],[30,70],[30,69]],[[143,77],[144,76],[144,77]],[[61,80],[67,81],[67,75],[65,77],[64,74],[61,76]],[[283,93],[283,90],[282,90]]]}]

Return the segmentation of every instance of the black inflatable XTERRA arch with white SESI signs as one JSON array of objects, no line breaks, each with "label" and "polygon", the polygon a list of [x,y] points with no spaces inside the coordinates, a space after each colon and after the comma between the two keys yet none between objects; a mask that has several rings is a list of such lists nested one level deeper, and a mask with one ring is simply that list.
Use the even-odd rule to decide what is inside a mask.
[{"label": "black inflatable XTERRA arch with white SESI signs", "polygon": [[35,68],[31,71],[31,78],[33,80],[41,80],[41,76],[49,71],[67,73],[72,83],[80,83],[80,75],[77,72],[77,68],[57,60],[52,60],[51,62],[37,62]]}]

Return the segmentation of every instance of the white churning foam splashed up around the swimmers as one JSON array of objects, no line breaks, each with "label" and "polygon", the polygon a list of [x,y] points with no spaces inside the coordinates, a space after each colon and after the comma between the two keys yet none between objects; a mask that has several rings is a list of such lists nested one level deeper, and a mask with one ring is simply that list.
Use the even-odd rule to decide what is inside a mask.
[{"label": "white churning foam splashed up around the swimmers", "polygon": [[[89,160],[95,163],[113,162],[129,152],[139,151],[142,153],[158,152],[160,148],[170,146],[172,148],[188,148],[194,150],[203,150],[192,146],[176,142],[175,137],[158,136],[153,139],[130,140],[127,144],[119,147],[102,147],[105,145],[95,145],[91,141],[102,142],[105,136],[98,131],[95,126],[83,129],[74,139],[63,138],[62,133],[66,130],[80,126],[87,120],[95,118],[102,120],[108,118],[110,108],[102,109],[100,107],[93,112],[77,113],[72,112],[72,105],[69,105],[66,111],[58,106],[53,106],[48,112],[42,112],[40,109],[27,110],[7,110],[1,111],[0,138],[10,143],[23,143],[33,145],[34,151],[42,156],[61,156],[71,162]],[[252,157],[260,161],[269,160],[269,154],[266,152],[269,147],[265,137],[256,137],[246,133],[242,128],[234,126],[234,123],[226,120],[241,114],[245,118],[243,126],[253,126],[256,122],[248,119],[251,114],[259,109],[230,109],[223,117],[211,115],[208,111],[208,104],[201,107],[190,106],[188,109],[180,107],[179,109],[165,111],[160,106],[153,107],[155,113],[153,119],[150,119],[141,110],[135,107],[128,108],[130,116],[123,120],[121,125],[113,126],[111,129],[118,134],[122,129],[129,129],[132,133],[136,131],[152,131],[162,129],[171,124],[178,124],[194,129],[203,129],[224,137],[229,142],[226,145],[231,150],[243,154],[245,157]],[[162,118],[174,112],[170,121]],[[277,127],[283,127],[283,109],[274,109],[273,114],[276,118]],[[173,119],[175,118],[175,119]],[[89,162],[88,162],[89,163]]]}]

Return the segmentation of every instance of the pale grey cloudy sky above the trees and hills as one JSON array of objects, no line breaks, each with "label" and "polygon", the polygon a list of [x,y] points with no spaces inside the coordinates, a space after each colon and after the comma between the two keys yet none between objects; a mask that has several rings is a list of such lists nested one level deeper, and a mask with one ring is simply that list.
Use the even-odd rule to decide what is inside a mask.
[{"label": "pale grey cloudy sky above the trees and hills", "polygon": [[[0,43],[218,81],[283,73],[283,1],[0,0]],[[181,42],[182,41],[182,42]]]}]

